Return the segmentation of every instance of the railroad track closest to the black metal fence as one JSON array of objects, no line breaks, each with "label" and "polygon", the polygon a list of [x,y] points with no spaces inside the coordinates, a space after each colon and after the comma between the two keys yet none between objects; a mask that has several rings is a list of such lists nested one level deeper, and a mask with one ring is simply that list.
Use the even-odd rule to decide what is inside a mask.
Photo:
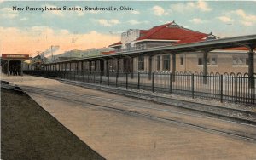
[{"label": "railroad track closest to the black metal fence", "polygon": [[179,108],[187,109],[190,111],[197,111],[208,117],[218,117],[224,120],[230,120],[238,123],[247,123],[256,125],[256,113],[252,111],[245,111],[240,109],[233,109],[224,106],[212,106],[207,104],[201,104],[196,102],[191,102],[187,100],[177,100],[172,98],[167,98],[163,96],[158,96],[155,94],[145,94],[139,93],[128,89],[111,88],[108,86],[81,83],[75,81],[61,80],[62,83],[72,84],[79,87],[84,87],[88,89],[97,89],[113,94],[121,94],[131,98],[137,98],[141,100],[150,100],[154,103],[168,106],[177,106]]}]

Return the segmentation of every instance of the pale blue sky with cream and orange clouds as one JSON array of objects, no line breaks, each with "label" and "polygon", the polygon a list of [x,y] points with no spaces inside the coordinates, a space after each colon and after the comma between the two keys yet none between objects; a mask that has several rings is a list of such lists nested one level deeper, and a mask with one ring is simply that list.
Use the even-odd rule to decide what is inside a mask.
[{"label": "pale blue sky with cream and orange clouds", "polygon": [[[58,7],[58,11],[29,11],[26,7]],[[64,11],[63,6],[83,11]],[[86,11],[114,7],[117,11]],[[121,6],[132,10],[120,10]],[[150,29],[175,20],[195,31],[218,37],[256,34],[256,2],[3,2],[0,0],[1,54],[36,54],[59,45],[55,54],[71,49],[108,47],[128,29]],[[25,8],[23,11],[13,7]],[[123,7],[124,8],[124,7]]]}]

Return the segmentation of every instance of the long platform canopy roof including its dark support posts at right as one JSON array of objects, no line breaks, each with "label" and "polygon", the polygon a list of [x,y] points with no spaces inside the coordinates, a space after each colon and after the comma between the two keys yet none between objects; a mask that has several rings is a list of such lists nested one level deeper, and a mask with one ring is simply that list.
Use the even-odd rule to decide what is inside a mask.
[{"label": "long platform canopy roof including its dark support posts at right", "polygon": [[[80,60],[107,60],[111,58],[131,58],[136,57],[140,54],[143,55],[155,55],[155,54],[181,54],[191,51],[199,51],[204,54],[203,56],[203,75],[206,76],[204,79],[204,83],[207,83],[207,53],[212,50],[217,49],[229,49],[229,48],[237,48],[237,47],[246,47],[248,49],[248,76],[249,85],[254,86],[253,75],[254,75],[254,49],[256,48],[256,34],[247,35],[247,36],[239,36],[239,37],[226,37],[226,38],[218,38],[218,39],[208,39],[203,42],[198,43],[183,43],[177,45],[167,45],[160,47],[152,47],[148,49],[130,49],[124,51],[116,51],[115,54],[100,54],[90,58],[78,58],[76,60],[65,60],[59,61],[51,64],[63,63],[63,62],[75,62]],[[175,58],[172,64],[175,64]],[[175,69],[173,70],[175,71]]]}]

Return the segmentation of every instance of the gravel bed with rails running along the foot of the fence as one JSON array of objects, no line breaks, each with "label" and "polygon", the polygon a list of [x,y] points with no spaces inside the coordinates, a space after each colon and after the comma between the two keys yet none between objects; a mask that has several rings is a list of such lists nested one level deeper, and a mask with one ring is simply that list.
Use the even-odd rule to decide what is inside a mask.
[{"label": "gravel bed with rails running along the foot of the fence", "polygon": [[[125,88],[114,88],[113,86],[106,86],[106,85],[98,85],[94,83],[81,83],[75,81],[61,81],[63,83],[77,83],[79,86],[89,87],[90,89],[100,89],[107,92],[124,94],[131,97],[138,97],[143,100],[153,100],[154,102],[160,102],[167,105],[175,105],[175,106],[182,106],[184,108],[194,108],[194,110],[199,111],[206,111],[208,113],[223,115],[227,117],[236,117],[241,120],[246,120],[249,122],[246,123],[255,123],[256,116],[255,106],[243,106],[238,104],[228,104],[228,103],[220,103],[216,102],[215,100],[200,100],[200,99],[192,99],[192,98],[185,98],[184,96],[173,95],[173,94],[160,94],[160,93],[152,93],[145,90],[138,90],[138,89],[125,89]],[[128,92],[127,92],[128,91]],[[184,99],[185,98],[185,99]],[[182,100],[182,101],[180,101]],[[183,100],[185,103],[183,103]],[[195,102],[196,104],[186,104],[186,102]],[[208,102],[208,103],[207,103]],[[197,105],[198,103],[198,105]],[[199,105],[201,104],[201,105]],[[207,105],[210,105],[207,106]],[[216,107],[214,107],[216,106]],[[234,110],[230,110],[234,109]],[[237,110],[237,111],[236,111]],[[220,118],[220,117],[219,117]],[[222,117],[227,119],[226,117]],[[245,123],[245,122],[243,122]]]}]

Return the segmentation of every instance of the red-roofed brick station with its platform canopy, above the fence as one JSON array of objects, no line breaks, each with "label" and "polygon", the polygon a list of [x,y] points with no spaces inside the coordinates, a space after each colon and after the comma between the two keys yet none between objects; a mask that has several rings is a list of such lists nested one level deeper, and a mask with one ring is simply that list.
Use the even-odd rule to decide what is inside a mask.
[{"label": "red-roofed brick station with its platform canopy, above the fence", "polygon": [[[100,55],[45,64],[46,71],[242,75],[255,74],[256,35],[219,38],[174,21],[149,30],[130,29],[113,50]],[[207,83],[207,78],[204,80]],[[253,81],[252,81],[253,82]],[[252,83],[253,85],[253,83]]]}]

